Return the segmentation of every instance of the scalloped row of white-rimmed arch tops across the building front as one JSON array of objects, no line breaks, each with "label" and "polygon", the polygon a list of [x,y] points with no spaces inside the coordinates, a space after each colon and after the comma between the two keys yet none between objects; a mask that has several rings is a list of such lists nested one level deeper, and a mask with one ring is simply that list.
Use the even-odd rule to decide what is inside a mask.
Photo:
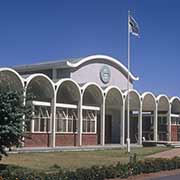
[{"label": "scalloped row of white-rimmed arch tops across the building front", "polygon": [[[127,96],[127,91],[123,93],[118,87],[110,86],[106,88],[105,90],[101,89],[99,85],[95,83],[86,83],[85,85],[78,85],[75,81],[72,79],[62,79],[59,80],[57,83],[54,83],[48,76],[44,74],[33,74],[29,75],[28,77],[22,77],[20,76],[15,70],[11,68],[0,68],[0,85],[3,87],[5,85],[8,85],[12,89],[15,90],[21,90],[25,86],[27,89],[34,91],[35,94],[38,94],[35,92],[39,89],[42,89],[42,94],[40,97],[37,96],[38,99],[43,98],[43,101],[46,101],[44,99],[44,96],[48,99],[54,96],[55,91],[58,93],[60,89],[62,89],[63,93],[65,91],[65,87],[70,92],[69,95],[73,96],[75,100],[80,98],[81,92],[92,91],[91,89],[94,89],[94,94],[100,95],[102,98],[104,95],[106,97],[111,97],[112,91],[116,93],[120,97],[120,101],[123,101],[123,98]],[[33,88],[32,88],[33,87]],[[56,90],[55,90],[56,89]],[[180,105],[180,98],[179,97],[172,97],[168,98],[166,95],[161,94],[157,97],[155,97],[154,94],[151,92],[145,92],[142,95],[140,95],[136,90],[132,89],[130,90],[130,94],[132,96],[132,99],[135,99],[132,104],[136,104],[137,107],[140,104],[140,101],[143,102],[143,107],[145,110],[155,108],[156,102],[158,102],[158,107],[161,111],[165,111],[169,109],[170,104],[172,104],[172,111],[173,112],[180,112],[179,105]],[[60,98],[61,101],[65,101],[66,98]],[[66,101],[70,101],[69,98]],[[102,99],[98,99],[102,101]]]}]

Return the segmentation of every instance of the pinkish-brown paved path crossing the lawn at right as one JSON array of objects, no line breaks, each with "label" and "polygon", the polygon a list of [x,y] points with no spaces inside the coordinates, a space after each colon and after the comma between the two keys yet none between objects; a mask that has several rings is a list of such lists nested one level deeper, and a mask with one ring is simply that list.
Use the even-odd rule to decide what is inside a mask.
[{"label": "pinkish-brown paved path crossing the lawn at right", "polygon": [[148,158],[173,158],[175,156],[180,156],[180,148],[174,148],[168,151],[156,153],[150,156],[147,156]]}]

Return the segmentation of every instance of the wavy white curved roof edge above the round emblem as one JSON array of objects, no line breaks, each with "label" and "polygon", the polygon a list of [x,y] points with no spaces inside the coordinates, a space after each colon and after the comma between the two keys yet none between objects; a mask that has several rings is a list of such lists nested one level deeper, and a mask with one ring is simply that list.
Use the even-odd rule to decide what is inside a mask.
[{"label": "wavy white curved roof edge above the round emblem", "polygon": [[69,67],[76,68],[76,67],[80,66],[81,64],[87,63],[87,62],[92,61],[92,60],[95,60],[95,59],[107,60],[107,61],[115,64],[115,65],[116,65],[117,67],[119,67],[123,72],[125,72],[126,76],[127,76],[128,73],[129,73],[131,80],[134,80],[134,81],[139,80],[138,77],[133,76],[132,73],[129,72],[128,69],[127,69],[123,64],[121,64],[117,59],[112,58],[112,57],[107,56],[107,55],[92,55],[92,56],[88,56],[88,57],[82,58],[82,59],[80,59],[79,61],[76,61],[76,62],[67,61],[67,65],[68,65]]}]

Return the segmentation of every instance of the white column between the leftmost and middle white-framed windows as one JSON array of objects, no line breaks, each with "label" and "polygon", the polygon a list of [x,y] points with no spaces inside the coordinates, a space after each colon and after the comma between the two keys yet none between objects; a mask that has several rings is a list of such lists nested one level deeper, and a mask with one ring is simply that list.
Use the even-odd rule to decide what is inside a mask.
[{"label": "white column between the leftmost and middle white-framed windows", "polygon": [[56,92],[51,101],[51,147],[56,147]]}]

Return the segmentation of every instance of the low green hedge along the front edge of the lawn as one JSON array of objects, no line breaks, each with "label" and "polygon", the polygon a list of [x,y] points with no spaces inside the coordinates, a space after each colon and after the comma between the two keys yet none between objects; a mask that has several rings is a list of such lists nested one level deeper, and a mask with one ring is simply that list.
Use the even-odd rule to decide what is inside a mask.
[{"label": "low green hedge along the front edge of the lawn", "polygon": [[93,166],[75,171],[59,168],[57,173],[39,173],[15,166],[0,166],[0,180],[103,180],[109,178],[127,178],[141,173],[151,173],[180,168],[180,158],[146,159],[136,162],[136,157],[128,164],[117,163],[111,166]]}]

